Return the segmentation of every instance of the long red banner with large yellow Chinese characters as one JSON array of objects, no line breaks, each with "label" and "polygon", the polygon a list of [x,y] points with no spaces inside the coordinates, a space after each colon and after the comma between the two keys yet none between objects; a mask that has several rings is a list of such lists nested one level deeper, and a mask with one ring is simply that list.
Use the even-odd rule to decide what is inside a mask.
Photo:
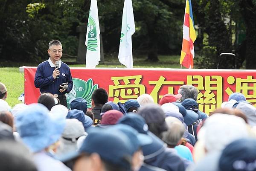
[{"label": "long red banner with large yellow Chinese characters", "polygon": [[[91,106],[93,90],[102,87],[109,100],[125,102],[150,94],[157,103],[164,94],[176,94],[180,86],[190,84],[198,88],[199,109],[210,113],[221,107],[233,92],[243,93],[247,101],[256,105],[256,70],[202,70],[202,69],[123,69],[70,68],[73,90],[67,101],[83,97]],[[37,102],[39,89],[34,86],[36,67],[25,67],[25,103]]]}]

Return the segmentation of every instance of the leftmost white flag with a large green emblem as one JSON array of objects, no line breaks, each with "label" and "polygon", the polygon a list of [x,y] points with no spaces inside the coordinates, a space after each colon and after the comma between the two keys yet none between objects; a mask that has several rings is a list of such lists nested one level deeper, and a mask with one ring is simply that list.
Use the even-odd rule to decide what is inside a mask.
[{"label": "leftmost white flag with a large green emblem", "polygon": [[87,24],[85,45],[86,51],[86,68],[95,68],[100,61],[100,39],[99,39],[99,16],[97,0],[91,0],[90,12]]}]

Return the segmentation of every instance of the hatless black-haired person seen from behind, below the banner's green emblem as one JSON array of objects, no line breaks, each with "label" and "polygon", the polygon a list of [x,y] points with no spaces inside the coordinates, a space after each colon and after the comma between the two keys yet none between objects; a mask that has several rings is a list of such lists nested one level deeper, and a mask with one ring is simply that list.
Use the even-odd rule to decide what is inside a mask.
[{"label": "hatless black-haired person seen from behind, below the banner's green emblem", "polygon": [[93,125],[97,125],[101,120],[101,108],[108,102],[108,93],[103,88],[97,88],[92,94],[92,112],[93,112]]}]

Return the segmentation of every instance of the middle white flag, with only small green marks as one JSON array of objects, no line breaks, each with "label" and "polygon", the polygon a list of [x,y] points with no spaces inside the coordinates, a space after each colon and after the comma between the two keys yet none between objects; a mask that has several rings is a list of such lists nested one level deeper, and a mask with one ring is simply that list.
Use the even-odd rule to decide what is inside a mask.
[{"label": "middle white flag, with only small green marks", "polygon": [[133,67],[131,36],[135,32],[134,14],[131,0],[125,0],[122,15],[122,31],[118,59],[128,68]]}]

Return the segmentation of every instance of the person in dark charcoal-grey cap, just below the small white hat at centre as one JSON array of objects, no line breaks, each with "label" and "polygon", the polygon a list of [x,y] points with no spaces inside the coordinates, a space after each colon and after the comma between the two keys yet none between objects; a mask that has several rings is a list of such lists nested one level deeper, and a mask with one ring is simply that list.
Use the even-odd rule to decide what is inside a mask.
[{"label": "person in dark charcoal-grey cap, just below the small white hat at centre", "polygon": [[137,114],[145,119],[148,129],[159,138],[161,133],[168,129],[165,122],[166,116],[158,104],[146,104]]}]

